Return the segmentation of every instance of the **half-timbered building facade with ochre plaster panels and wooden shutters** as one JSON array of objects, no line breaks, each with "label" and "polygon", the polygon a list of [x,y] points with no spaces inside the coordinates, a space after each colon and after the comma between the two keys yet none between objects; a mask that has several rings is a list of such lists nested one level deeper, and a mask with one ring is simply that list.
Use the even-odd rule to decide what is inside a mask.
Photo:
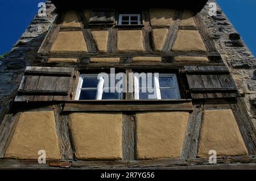
[{"label": "half-timbered building facade with ochre plaster panels and wooden shutters", "polygon": [[209,2],[47,1],[0,69],[13,77],[3,89],[15,84],[1,98],[0,169],[255,167],[253,119]]}]

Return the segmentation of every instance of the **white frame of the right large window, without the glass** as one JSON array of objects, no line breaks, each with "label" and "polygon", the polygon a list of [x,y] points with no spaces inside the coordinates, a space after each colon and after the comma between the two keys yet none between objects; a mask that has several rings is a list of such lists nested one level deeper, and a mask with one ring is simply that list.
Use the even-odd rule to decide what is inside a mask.
[{"label": "white frame of the right large window, without the glass", "polygon": [[[147,76],[147,74],[146,74]],[[144,75],[134,74],[134,98],[135,100],[139,100],[139,77],[146,78]],[[153,77],[153,76],[152,76]],[[174,78],[174,90],[176,94],[176,99],[168,99],[168,100],[179,100],[180,99],[180,90],[179,90],[179,83],[177,82],[177,75],[176,74],[162,74],[162,73],[154,73],[154,90],[156,93],[156,99],[161,100],[161,92],[160,92],[160,85],[159,85],[159,77],[173,77]]]}]

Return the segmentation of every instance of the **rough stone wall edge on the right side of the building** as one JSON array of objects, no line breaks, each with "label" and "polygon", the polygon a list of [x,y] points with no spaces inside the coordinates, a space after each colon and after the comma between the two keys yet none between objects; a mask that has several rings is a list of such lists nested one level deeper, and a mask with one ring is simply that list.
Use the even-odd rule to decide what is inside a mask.
[{"label": "rough stone wall edge on the right side of the building", "polygon": [[237,83],[241,95],[247,106],[247,112],[256,127],[256,61],[239,33],[226,17],[220,6],[217,6],[217,16],[210,17],[209,0],[204,9],[200,12],[205,27],[214,40],[218,52],[228,65]]}]

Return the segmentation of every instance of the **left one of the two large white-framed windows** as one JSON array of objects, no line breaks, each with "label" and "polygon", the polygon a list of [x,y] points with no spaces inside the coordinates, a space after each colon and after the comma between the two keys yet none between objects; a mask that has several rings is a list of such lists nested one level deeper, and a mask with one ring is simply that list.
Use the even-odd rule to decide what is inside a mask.
[{"label": "left one of the two large white-framed windows", "polygon": [[[110,81],[114,78],[114,83]],[[110,74],[98,76],[98,74],[81,74],[76,91],[76,100],[121,100],[123,99],[122,85],[119,88],[118,82],[123,81],[121,75]],[[118,89],[118,90],[117,90]]]}]

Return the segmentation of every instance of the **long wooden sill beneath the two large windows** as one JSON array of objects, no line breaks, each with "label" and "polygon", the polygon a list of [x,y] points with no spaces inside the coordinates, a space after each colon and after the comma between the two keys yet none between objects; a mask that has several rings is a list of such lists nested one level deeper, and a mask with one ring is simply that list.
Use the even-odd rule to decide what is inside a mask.
[{"label": "long wooden sill beneath the two large windows", "polygon": [[81,111],[193,111],[191,99],[181,100],[69,100],[63,112]]}]

